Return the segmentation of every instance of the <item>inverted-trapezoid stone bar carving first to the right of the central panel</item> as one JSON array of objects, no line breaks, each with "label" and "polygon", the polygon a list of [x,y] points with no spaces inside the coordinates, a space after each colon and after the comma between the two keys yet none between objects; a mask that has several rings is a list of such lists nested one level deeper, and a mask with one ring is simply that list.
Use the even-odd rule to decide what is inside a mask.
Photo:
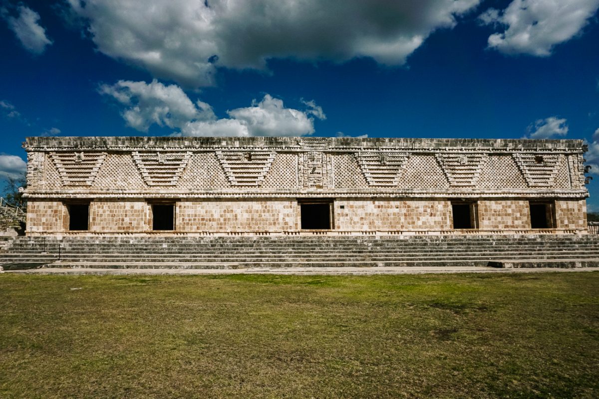
[{"label": "inverted-trapezoid stone bar carving first to the right of the central panel", "polygon": [[364,152],[356,154],[368,185],[396,186],[409,153]]}]

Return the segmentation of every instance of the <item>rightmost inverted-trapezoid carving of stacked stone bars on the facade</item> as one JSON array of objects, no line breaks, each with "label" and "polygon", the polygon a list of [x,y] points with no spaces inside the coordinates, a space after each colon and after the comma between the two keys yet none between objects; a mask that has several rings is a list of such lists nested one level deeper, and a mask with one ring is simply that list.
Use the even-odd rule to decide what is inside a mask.
[{"label": "rightmost inverted-trapezoid carving of stacked stone bars on the facade", "polygon": [[559,154],[516,153],[512,156],[529,187],[553,184],[561,160]]}]

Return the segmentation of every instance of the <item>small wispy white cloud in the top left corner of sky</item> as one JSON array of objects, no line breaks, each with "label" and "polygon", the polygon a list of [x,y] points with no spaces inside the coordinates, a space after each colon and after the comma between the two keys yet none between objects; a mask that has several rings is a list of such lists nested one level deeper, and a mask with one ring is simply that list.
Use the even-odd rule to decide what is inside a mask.
[{"label": "small wispy white cloud in the top left corner of sky", "polygon": [[46,36],[46,29],[38,21],[40,14],[25,5],[17,7],[18,17],[7,17],[8,27],[17,36],[23,47],[34,54],[41,54],[52,41]]}]

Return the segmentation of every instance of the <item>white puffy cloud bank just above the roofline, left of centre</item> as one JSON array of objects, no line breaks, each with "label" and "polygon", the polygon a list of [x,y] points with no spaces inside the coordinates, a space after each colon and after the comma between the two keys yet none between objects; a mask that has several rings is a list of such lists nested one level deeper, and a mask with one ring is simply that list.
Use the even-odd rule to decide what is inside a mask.
[{"label": "white puffy cloud bank just above the roofline, left of centre", "polygon": [[286,108],[283,100],[266,94],[252,105],[227,111],[229,118],[218,119],[212,107],[195,103],[175,84],[118,81],[100,86],[102,95],[125,106],[126,124],[147,132],[152,124],[177,129],[182,136],[303,136],[314,133],[314,118],[326,115],[314,100],[304,101],[304,111]]}]

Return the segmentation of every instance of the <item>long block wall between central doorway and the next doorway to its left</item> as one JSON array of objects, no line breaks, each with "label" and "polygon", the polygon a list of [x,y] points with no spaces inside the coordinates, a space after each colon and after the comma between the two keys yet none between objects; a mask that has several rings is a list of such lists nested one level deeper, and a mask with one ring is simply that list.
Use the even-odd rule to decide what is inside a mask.
[{"label": "long block wall between central doorway and the next doorway to its left", "polygon": [[181,232],[281,232],[297,230],[295,200],[181,201],[176,229]]}]

